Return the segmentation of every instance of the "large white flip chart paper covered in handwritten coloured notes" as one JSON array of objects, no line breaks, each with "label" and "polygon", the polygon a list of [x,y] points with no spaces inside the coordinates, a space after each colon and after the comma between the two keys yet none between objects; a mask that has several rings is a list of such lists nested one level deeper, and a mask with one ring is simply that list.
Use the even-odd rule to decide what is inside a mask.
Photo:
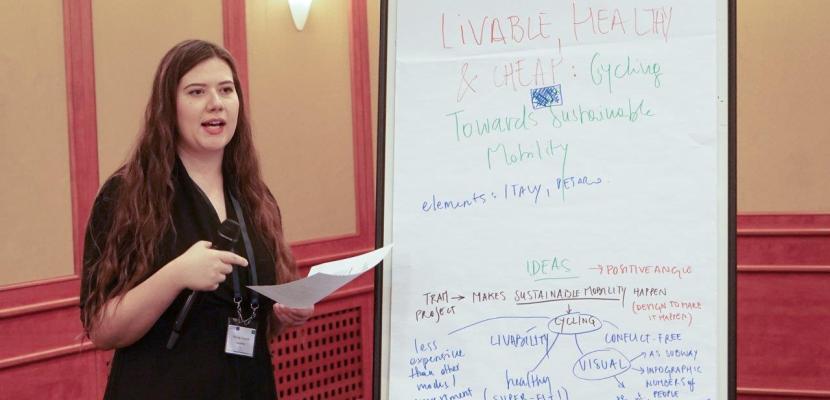
[{"label": "large white flip chart paper covered in handwritten coloured notes", "polygon": [[725,12],[390,3],[386,398],[726,398]]}]

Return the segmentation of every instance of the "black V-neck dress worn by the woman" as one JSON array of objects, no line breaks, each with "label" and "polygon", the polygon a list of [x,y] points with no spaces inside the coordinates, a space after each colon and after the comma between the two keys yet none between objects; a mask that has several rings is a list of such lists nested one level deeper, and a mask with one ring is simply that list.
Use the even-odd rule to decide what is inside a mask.
[{"label": "black V-neck dress worn by the woman", "polygon": [[[172,176],[174,199],[173,227],[158,243],[155,268],[167,264],[200,240],[213,241],[220,221],[210,201],[188,176],[184,165],[176,160]],[[237,219],[225,188],[226,215]],[[112,224],[112,201],[118,189],[118,177],[110,178],[101,188],[92,208],[84,242],[84,271],[81,280],[81,305],[94,282],[95,261],[101,257],[100,246]],[[240,199],[241,201],[241,199]],[[242,205],[243,210],[247,210]],[[244,211],[243,211],[244,212]],[[268,250],[245,215],[248,234],[256,257],[260,285],[276,283],[274,255]],[[248,258],[242,239],[236,253]],[[251,291],[247,268],[239,269],[243,313],[250,315]],[[181,337],[172,350],[166,348],[176,316],[189,290],[185,290],[164,311],[152,328],[135,343],[117,349],[113,358],[105,399],[275,399],[274,369],[268,348],[266,329],[273,302],[260,296],[257,315],[254,357],[225,353],[228,317],[236,315],[231,276],[213,292],[199,296],[188,314]]]}]

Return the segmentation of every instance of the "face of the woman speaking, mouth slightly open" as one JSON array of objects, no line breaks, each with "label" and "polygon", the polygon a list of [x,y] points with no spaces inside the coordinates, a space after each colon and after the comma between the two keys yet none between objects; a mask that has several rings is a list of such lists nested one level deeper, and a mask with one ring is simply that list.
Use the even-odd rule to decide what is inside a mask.
[{"label": "face of the woman speaking, mouth slightly open", "polygon": [[187,71],[176,89],[179,153],[221,155],[236,131],[239,97],[225,61],[211,58]]}]

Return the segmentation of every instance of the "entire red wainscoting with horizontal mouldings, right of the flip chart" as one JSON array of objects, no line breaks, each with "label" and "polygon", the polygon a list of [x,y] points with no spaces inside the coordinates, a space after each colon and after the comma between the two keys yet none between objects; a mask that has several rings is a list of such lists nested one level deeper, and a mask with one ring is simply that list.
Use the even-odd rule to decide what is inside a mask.
[{"label": "entire red wainscoting with horizontal mouldings, right of the flip chart", "polygon": [[830,215],[738,217],[739,399],[830,399]]}]

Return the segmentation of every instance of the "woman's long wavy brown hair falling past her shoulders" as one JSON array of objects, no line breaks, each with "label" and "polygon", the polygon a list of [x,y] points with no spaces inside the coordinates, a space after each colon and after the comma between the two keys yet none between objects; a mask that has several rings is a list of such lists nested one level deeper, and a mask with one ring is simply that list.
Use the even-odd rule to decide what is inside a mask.
[{"label": "woman's long wavy brown hair falling past her shoulders", "polygon": [[262,181],[236,64],[230,53],[213,43],[187,40],[170,49],[159,63],[143,129],[131,155],[113,175],[118,186],[112,225],[103,235],[101,257],[90,266],[96,273],[81,309],[87,332],[109,300],[124,295],[154,271],[158,238],[172,229],[172,171],[179,136],[176,90],[184,74],[211,58],[228,64],[239,96],[236,131],[225,146],[222,172],[238,185],[245,211],[276,255],[278,281],[295,278],[297,267],[283,237],[279,207]]}]

